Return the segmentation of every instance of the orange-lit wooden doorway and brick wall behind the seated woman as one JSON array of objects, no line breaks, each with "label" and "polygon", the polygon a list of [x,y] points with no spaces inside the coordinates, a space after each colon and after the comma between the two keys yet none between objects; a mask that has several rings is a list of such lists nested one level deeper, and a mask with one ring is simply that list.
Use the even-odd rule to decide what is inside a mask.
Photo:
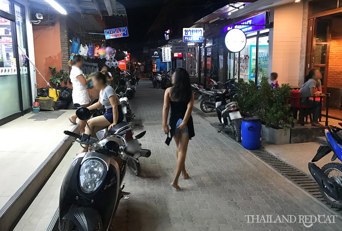
[{"label": "orange-lit wooden doorway and brick wall behind the seated woman", "polygon": [[342,1],[308,2],[305,74],[319,69],[323,92],[331,95],[329,115],[342,119]]}]

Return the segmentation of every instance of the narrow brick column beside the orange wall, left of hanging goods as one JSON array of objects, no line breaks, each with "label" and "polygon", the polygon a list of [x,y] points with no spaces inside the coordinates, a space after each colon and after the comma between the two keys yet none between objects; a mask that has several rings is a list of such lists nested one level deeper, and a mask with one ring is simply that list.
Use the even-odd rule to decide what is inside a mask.
[{"label": "narrow brick column beside the orange wall, left of hanging goods", "polygon": [[66,17],[60,17],[60,33],[61,33],[61,53],[62,53],[62,69],[69,73],[69,36],[66,25]]}]

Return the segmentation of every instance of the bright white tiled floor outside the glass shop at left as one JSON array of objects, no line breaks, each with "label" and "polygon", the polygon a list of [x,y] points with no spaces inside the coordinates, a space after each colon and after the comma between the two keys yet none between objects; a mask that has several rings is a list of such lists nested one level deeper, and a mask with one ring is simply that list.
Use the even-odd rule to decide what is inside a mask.
[{"label": "bright white tiled floor outside the glass shop at left", "polygon": [[35,115],[28,113],[0,126],[0,207],[63,140],[63,131],[73,129],[68,117],[74,113],[65,110],[60,117],[45,121],[28,119]]}]

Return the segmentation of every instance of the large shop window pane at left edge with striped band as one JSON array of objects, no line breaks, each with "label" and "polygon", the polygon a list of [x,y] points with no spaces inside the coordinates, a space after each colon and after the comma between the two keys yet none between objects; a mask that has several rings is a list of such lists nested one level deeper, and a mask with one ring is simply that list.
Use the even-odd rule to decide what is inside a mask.
[{"label": "large shop window pane at left edge with striped band", "polygon": [[20,112],[11,21],[0,17],[0,119]]}]

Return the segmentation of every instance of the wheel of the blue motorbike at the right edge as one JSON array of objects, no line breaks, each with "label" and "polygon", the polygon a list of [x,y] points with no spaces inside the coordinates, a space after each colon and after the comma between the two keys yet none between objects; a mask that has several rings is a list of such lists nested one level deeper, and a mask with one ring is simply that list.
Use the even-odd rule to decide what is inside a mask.
[{"label": "wheel of the blue motorbike at the right edge", "polygon": [[[334,179],[336,182],[342,185],[342,164],[340,163],[327,163],[322,167],[322,171],[330,179]],[[337,176],[336,176],[337,175]],[[342,201],[337,201],[319,187],[324,199],[334,208],[342,208]]]}]

